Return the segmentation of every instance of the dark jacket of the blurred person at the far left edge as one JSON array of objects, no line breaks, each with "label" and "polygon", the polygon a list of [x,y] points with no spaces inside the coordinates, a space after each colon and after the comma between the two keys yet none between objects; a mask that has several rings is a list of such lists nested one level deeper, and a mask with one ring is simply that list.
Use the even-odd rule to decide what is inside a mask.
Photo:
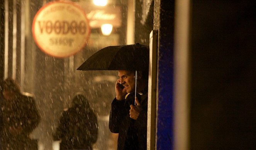
[{"label": "dark jacket of the blurred person at the far left edge", "polygon": [[[3,98],[1,101],[1,148],[37,149],[37,140],[29,137],[41,119],[33,97],[19,94],[14,101],[5,101]],[[19,128],[21,132],[14,135],[10,127]]]}]

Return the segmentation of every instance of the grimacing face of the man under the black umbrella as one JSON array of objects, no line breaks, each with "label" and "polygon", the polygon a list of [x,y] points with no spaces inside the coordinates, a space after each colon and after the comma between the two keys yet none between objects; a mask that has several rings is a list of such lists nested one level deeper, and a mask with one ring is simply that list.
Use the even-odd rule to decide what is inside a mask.
[{"label": "grimacing face of the man under the black umbrella", "polygon": [[127,93],[135,92],[135,75],[132,71],[119,70],[118,76]]}]

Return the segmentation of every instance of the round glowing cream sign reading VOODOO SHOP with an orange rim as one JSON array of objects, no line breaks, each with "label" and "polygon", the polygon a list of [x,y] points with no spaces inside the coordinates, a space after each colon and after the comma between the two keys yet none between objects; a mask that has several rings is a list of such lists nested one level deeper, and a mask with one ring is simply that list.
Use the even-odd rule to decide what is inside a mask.
[{"label": "round glowing cream sign reading VOODOO SHOP with an orange rim", "polygon": [[90,35],[85,12],[73,2],[49,2],[34,17],[32,33],[37,46],[54,57],[80,51]]}]

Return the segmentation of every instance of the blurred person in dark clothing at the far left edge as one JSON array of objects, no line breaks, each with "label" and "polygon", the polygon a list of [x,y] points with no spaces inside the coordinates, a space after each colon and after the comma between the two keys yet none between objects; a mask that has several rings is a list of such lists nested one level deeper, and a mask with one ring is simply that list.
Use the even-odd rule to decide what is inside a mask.
[{"label": "blurred person in dark clothing at the far left edge", "polygon": [[41,119],[34,98],[22,94],[19,84],[11,78],[5,79],[0,87],[0,148],[3,150],[37,150],[37,140],[29,137]]}]

